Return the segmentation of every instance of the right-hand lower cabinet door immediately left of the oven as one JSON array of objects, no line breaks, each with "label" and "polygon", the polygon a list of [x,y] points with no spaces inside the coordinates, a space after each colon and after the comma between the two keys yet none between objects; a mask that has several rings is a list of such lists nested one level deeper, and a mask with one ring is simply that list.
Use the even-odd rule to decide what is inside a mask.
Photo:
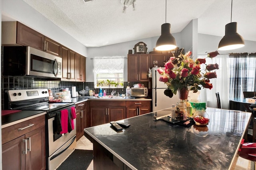
[{"label": "right-hand lower cabinet door immediately left of the oven", "polygon": [[25,139],[27,140],[28,147],[28,153],[26,154],[26,170],[45,170],[45,126],[27,133]]}]

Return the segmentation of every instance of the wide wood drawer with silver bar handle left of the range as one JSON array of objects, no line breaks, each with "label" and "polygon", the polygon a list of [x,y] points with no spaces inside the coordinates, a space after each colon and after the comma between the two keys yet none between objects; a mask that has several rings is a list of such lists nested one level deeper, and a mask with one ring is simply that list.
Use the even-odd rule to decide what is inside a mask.
[{"label": "wide wood drawer with silver bar handle left of the range", "polygon": [[45,126],[45,115],[2,128],[2,144],[18,138],[32,130]]}]

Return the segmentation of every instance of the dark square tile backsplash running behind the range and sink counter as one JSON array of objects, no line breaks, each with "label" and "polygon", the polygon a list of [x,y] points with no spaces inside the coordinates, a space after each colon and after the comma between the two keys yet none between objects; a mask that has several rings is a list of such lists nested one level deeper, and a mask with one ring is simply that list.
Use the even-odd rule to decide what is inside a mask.
[{"label": "dark square tile backsplash running behind the range and sink counter", "polygon": [[[125,94],[126,93],[126,86],[130,85],[133,87],[134,84],[140,82],[124,82],[124,88],[102,88],[102,90],[106,90],[107,95],[111,93],[112,90],[115,90],[116,93]],[[147,82],[143,82],[142,84],[145,87],[148,87]],[[6,90],[14,90],[14,89],[51,89],[53,93],[62,91],[62,89],[69,88],[70,93],[72,86],[76,86],[76,91],[81,91],[85,89],[89,91],[90,89],[94,90],[95,93],[99,93],[98,88],[94,88],[94,82],[74,82],[74,81],[58,81],[58,80],[43,80],[43,79],[36,79],[35,77],[28,77],[28,76],[2,76],[2,83],[1,83],[1,109],[5,109],[4,102],[8,99],[4,99],[4,92]]]}]

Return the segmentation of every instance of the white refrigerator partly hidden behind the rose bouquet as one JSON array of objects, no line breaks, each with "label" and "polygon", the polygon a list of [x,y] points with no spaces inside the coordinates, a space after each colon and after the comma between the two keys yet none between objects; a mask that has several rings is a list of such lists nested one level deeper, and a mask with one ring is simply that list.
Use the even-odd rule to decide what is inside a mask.
[{"label": "white refrigerator partly hidden behind the rose bouquet", "polygon": [[173,95],[172,98],[164,95],[164,90],[167,89],[167,85],[164,82],[159,81],[160,74],[157,71],[158,67],[152,68],[152,111],[159,111],[172,107],[172,104],[176,106],[179,101],[179,94]]}]

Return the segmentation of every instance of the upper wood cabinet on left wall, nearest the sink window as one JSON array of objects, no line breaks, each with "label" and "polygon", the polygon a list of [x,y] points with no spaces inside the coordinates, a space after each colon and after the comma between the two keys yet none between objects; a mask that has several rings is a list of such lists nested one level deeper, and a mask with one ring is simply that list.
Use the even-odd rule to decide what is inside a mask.
[{"label": "upper wood cabinet on left wall, nearest the sink window", "polygon": [[86,57],[76,53],[76,81],[86,80]]}]

